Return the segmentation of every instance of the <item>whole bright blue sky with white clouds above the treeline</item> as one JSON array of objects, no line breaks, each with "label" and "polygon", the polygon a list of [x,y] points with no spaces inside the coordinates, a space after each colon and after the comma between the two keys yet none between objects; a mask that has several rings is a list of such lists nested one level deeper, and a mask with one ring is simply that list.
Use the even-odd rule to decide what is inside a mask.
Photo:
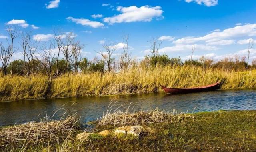
[{"label": "whole bright blue sky with white clouds above the treeline", "polygon": [[[214,60],[246,55],[248,39],[256,39],[255,0],[2,0],[0,42],[7,24],[32,31],[37,40],[52,38],[53,29],[74,32],[86,44],[83,55],[96,56],[103,42],[122,46],[129,34],[132,56],[143,58],[152,37],[163,40],[160,53],[183,60],[204,55]],[[38,35],[40,34],[40,35]],[[17,43],[20,38],[16,39]],[[256,46],[255,46],[256,47]],[[256,58],[255,47],[250,60]],[[116,51],[116,58],[122,50]],[[15,58],[21,58],[16,52]]]}]

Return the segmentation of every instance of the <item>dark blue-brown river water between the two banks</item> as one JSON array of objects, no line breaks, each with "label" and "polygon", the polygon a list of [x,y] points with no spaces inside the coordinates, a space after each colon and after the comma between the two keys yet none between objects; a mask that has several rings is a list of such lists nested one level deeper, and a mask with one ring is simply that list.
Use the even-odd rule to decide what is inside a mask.
[{"label": "dark blue-brown river water between the two banks", "polygon": [[57,110],[58,112],[54,115],[55,119],[67,110],[67,113],[76,112],[81,121],[88,122],[102,116],[110,101],[116,101],[116,105],[123,104],[124,106],[132,103],[134,110],[149,110],[158,107],[164,110],[199,112],[220,109],[252,110],[256,109],[255,98],[256,90],[218,90],[178,95],[156,93],[0,102],[0,126],[38,121],[39,118],[51,116]]}]

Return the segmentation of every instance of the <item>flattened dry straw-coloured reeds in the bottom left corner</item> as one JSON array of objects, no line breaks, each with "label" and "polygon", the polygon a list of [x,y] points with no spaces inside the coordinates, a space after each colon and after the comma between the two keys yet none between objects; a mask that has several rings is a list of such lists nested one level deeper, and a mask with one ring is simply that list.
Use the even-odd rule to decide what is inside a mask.
[{"label": "flattened dry straw-coloured reeds in the bottom left corner", "polygon": [[63,142],[78,128],[78,119],[72,115],[64,120],[28,122],[0,128],[0,150],[18,148],[20,151],[38,145]]}]

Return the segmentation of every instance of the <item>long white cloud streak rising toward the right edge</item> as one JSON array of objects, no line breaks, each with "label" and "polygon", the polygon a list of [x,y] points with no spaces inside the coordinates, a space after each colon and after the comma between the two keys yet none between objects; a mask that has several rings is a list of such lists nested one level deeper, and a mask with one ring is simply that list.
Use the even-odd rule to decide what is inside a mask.
[{"label": "long white cloud streak rising toward the right edge", "polygon": [[237,38],[242,36],[255,36],[256,24],[246,24],[243,26],[235,26],[234,28],[228,28],[221,32],[212,32],[201,37],[184,37],[173,41],[175,44],[190,44],[199,41],[214,42],[224,39]]}]

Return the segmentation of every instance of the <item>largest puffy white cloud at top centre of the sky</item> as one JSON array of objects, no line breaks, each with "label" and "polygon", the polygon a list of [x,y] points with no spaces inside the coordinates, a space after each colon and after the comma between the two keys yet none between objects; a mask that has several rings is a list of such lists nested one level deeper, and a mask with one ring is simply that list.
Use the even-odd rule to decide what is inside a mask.
[{"label": "largest puffy white cloud at top centre of the sky", "polygon": [[104,18],[104,22],[109,24],[122,23],[122,22],[150,22],[153,18],[162,17],[164,12],[160,6],[142,6],[138,8],[137,6],[122,7],[118,6],[116,9],[121,12],[119,15]]}]

